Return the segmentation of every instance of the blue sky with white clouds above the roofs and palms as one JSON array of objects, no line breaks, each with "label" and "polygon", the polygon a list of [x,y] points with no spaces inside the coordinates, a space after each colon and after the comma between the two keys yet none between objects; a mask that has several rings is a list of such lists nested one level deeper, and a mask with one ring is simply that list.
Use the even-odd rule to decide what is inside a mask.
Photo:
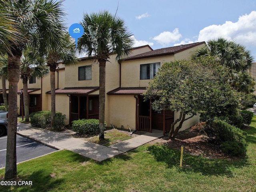
[{"label": "blue sky with white clouds above the roofs and palms", "polygon": [[224,37],[244,45],[256,60],[255,0],[66,0],[64,9],[68,26],[84,13],[117,10],[134,34],[134,46],[155,50]]}]

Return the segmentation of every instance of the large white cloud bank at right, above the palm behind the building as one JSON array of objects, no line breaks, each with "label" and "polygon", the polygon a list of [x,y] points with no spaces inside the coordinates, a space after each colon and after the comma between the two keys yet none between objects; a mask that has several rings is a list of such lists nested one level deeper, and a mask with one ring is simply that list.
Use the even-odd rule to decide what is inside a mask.
[{"label": "large white cloud bank at right, above the palm behind the building", "polygon": [[256,11],[242,15],[237,22],[226,21],[222,25],[211,25],[199,32],[198,41],[223,37],[235,40],[244,46],[256,45]]}]

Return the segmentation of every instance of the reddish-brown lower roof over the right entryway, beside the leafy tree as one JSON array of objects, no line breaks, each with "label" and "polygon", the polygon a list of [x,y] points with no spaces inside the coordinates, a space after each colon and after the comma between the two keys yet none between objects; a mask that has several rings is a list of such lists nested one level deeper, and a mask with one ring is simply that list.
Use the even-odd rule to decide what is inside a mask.
[{"label": "reddish-brown lower roof over the right entryway, beside the leafy tree", "polygon": [[108,92],[108,95],[141,95],[146,87],[119,87]]}]

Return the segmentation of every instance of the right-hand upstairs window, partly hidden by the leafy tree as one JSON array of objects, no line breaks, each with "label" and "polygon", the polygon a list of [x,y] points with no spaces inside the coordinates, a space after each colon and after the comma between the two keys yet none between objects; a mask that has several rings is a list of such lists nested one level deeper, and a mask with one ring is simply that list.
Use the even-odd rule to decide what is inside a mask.
[{"label": "right-hand upstairs window, partly hidden by the leafy tree", "polygon": [[140,79],[152,79],[159,68],[160,62],[140,65]]}]

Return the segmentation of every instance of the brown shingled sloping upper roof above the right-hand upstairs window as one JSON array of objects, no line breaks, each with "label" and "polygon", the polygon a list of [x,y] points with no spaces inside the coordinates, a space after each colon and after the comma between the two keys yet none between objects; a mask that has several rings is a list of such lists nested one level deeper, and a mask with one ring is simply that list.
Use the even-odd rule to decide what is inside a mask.
[{"label": "brown shingled sloping upper roof above the right-hand upstairs window", "polygon": [[192,44],[186,44],[186,45],[179,45],[179,46],[174,46],[174,47],[156,49],[156,50],[152,50],[152,51],[145,52],[145,53],[142,53],[142,54],[127,57],[127,58],[124,59],[124,61],[175,54],[177,52],[186,50],[188,48],[192,48],[194,46],[198,46],[200,44],[205,44],[205,42],[196,42],[196,43],[192,43]]}]

